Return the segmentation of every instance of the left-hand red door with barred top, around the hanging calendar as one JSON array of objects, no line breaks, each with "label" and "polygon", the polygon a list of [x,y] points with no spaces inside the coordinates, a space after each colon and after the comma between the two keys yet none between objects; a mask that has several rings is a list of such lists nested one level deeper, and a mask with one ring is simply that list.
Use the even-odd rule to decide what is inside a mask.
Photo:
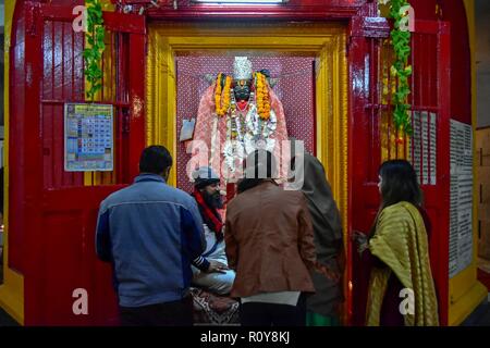
[{"label": "left-hand red door with barred top, around the hanging calendar", "polygon": [[[24,322],[115,324],[111,269],[97,260],[94,239],[100,201],[123,186],[84,186],[82,174],[52,182],[45,177],[47,169],[51,175],[66,175],[61,110],[64,102],[84,101],[83,73],[74,63],[75,57],[83,54],[83,36],[79,34],[82,40],[75,42],[72,7],[27,2],[21,9],[21,20],[14,23],[25,26],[14,27],[13,33],[19,29],[24,46],[11,52],[11,64],[22,71],[12,80],[21,84],[11,85],[10,104],[23,103],[24,109],[13,108],[10,113],[10,124],[15,125],[10,134],[10,204],[16,211],[15,221],[10,216],[9,246],[23,251],[13,254],[22,261]],[[115,163],[118,181],[113,184],[127,184],[138,172],[139,153],[146,141],[146,24],[144,16],[119,13],[105,13],[105,23],[108,30],[121,36],[117,47],[119,65],[114,67],[115,97],[102,102],[114,107],[114,145],[121,149],[117,158],[120,163]],[[127,61],[121,62],[124,59]],[[58,91],[60,86],[60,94],[47,92]],[[82,86],[76,96],[73,86]],[[64,88],[72,94],[65,95]],[[15,262],[11,264],[14,266]],[[88,315],[75,315],[72,310],[76,300],[73,291],[77,288],[87,290]]]}]

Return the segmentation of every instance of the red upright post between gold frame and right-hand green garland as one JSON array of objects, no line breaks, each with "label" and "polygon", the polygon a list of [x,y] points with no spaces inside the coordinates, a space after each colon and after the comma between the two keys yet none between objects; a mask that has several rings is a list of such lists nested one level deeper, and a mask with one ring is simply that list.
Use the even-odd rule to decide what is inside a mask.
[{"label": "red upright post between gold frame and right-hand green garland", "polygon": [[[348,76],[350,76],[350,139],[348,139],[348,202],[350,202],[350,231],[368,232],[379,206],[377,183],[370,181],[372,163],[380,162],[380,149],[376,150],[373,141],[379,135],[375,132],[366,111],[369,104],[369,85],[373,76],[370,74],[369,41],[388,37],[388,23],[372,23],[365,17],[355,17],[351,24],[351,38],[348,46]],[[375,149],[373,149],[375,148]],[[363,169],[363,170],[356,170]],[[372,176],[372,175],[371,175]],[[377,177],[377,176],[376,176]],[[353,214],[353,212],[356,212]],[[355,246],[348,243],[348,279],[350,284],[350,324],[364,325],[367,287],[370,269],[367,260],[360,260]]]}]

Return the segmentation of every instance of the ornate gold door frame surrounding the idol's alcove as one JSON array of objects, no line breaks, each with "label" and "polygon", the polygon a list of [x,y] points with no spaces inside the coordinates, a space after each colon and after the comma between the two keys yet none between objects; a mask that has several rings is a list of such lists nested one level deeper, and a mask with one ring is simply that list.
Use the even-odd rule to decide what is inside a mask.
[{"label": "ornate gold door frame surrounding the idol's alcove", "polygon": [[[196,51],[275,51],[318,58],[316,150],[341,211],[347,244],[347,62],[346,27],[336,23],[185,23],[149,26],[146,95],[147,145],[176,154],[175,54]],[[249,55],[249,54],[248,54]],[[175,185],[175,170],[170,185]]]}]

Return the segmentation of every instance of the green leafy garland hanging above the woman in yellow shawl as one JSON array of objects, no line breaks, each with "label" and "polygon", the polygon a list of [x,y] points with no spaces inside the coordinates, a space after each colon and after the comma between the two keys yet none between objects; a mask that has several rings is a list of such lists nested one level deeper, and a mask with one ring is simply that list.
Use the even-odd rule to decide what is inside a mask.
[{"label": "green leafy garland hanging above the woman in yellow shawl", "polygon": [[407,29],[408,9],[407,0],[379,0],[380,4],[388,4],[390,9],[389,17],[394,21],[391,30],[391,44],[395,52],[395,61],[391,66],[391,75],[396,78],[396,91],[393,95],[393,122],[402,134],[412,135],[412,122],[407,103],[411,86],[408,78],[412,75],[412,66],[408,65],[411,55],[411,32]]}]

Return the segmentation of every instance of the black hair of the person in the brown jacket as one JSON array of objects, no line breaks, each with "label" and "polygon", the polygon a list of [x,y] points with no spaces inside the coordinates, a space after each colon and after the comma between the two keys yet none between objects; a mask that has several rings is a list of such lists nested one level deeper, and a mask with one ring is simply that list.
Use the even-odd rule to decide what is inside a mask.
[{"label": "black hair of the person in the brown jacket", "polygon": [[270,151],[260,149],[245,160],[245,177],[237,185],[238,194],[275,176],[275,159]]}]

